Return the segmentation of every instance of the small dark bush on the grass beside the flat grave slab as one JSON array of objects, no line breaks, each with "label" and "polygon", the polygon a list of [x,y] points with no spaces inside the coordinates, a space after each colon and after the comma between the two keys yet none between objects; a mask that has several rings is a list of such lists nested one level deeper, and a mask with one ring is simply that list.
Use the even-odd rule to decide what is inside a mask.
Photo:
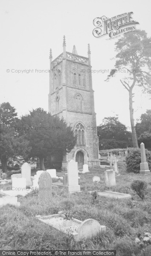
[{"label": "small dark bush on the grass beside the flat grave slab", "polygon": [[134,180],[131,183],[131,188],[141,199],[144,199],[146,195],[147,183],[142,180]]}]

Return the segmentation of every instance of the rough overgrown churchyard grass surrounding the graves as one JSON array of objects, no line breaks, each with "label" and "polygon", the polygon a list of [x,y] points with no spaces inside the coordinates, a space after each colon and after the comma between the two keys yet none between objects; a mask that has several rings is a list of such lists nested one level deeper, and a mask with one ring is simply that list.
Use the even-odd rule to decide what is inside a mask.
[{"label": "rough overgrown churchyard grass surrounding the graves", "polygon": [[[135,238],[151,230],[151,182],[150,176],[126,173],[120,165],[120,175],[116,176],[116,191],[129,193],[132,200],[97,197],[93,201],[89,191],[102,190],[105,169],[92,169],[89,173],[79,173],[81,193],[67,194],[53,191],[52,202],[40,204],[38,192],[26,197],[19,196],[20,208],[5,206],[0,208],[0,249],[1,250],[116,250],[117,256],[148,256],[151,245],[142,247],[135,244]],[[101,182],[93,183],[93,176]],[[130,189],[133,180],[148,183],[148,195],[141,200]],[[8,185],[1,185],[5,190]],[[9,185],[11,186],[11,185]],[[107,232],[88,241],[75,242],[52,227],[38,221],[35,215],[56,214],[70,210],[74,218],[84,221],[93,218],[107,227]]]}]

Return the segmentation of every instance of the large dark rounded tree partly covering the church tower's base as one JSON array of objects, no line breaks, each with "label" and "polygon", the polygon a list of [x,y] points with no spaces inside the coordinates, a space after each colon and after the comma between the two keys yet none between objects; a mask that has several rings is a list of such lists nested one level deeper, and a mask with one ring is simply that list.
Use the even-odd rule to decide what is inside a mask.
[{"label": "large dark rounded tree partly covering the church tower's base", "polygon": [[41,108],[37,108],[20,119],[20,134],[29,141],[31,151],[29,157],[38,157],[40,168],[44,167],[44,158],[55,154],[66,154],[76,145],[73,129],[67,126],[64,119],[51,116]]}]

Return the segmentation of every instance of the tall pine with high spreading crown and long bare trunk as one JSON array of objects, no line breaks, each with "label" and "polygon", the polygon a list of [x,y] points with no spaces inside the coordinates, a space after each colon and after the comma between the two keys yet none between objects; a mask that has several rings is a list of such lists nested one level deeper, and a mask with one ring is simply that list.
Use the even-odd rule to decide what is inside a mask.
[{"label": "tall pine with high spreading crown and long bare trunk", "polygon": [[115,45],[118,52],[115,57],[115,68],[111,70],[106,81],[114,76],[118,70],[122,70],[123,73],[125,70],[125,77],[120,81],[129,93],[133,145],[138,147],[134,125],[133,89],[134,86],[139,86],[143,92],[149,93],[151,91],[151,76],[149,74],[151,67],[151,38],[147,38],[147,33],[144,30],[134,31],[125,33]]}]

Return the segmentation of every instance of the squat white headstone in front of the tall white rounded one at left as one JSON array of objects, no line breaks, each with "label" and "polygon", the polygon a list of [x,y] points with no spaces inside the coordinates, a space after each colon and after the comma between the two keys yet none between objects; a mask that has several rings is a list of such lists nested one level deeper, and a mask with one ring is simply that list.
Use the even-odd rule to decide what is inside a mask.
[{"label": "squat white headstone in front of the tall white rounded one at left", "polygon": [[18,192],[18,195],[26,192],[26,179],[25,178],[12,178],[12,190]]}]

